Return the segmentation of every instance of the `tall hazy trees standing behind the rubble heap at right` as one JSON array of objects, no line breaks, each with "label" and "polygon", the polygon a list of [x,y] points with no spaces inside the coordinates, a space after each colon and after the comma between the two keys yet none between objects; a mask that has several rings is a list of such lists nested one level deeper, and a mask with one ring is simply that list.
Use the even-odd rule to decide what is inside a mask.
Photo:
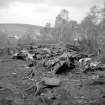
[{"label": "tall hazy trees standing behind the rubble heap at right", "polygon": [[104,50],[105,3],[103,7],[91,7],[80,23],[71,20],[68,10],[62,9],[56,17],[54,27],[51,27],[50,23],[46,23],[40,33],[39,39],[42,42],[58,43],[62,41],[73,44],[77,41],[84,50]]}]

